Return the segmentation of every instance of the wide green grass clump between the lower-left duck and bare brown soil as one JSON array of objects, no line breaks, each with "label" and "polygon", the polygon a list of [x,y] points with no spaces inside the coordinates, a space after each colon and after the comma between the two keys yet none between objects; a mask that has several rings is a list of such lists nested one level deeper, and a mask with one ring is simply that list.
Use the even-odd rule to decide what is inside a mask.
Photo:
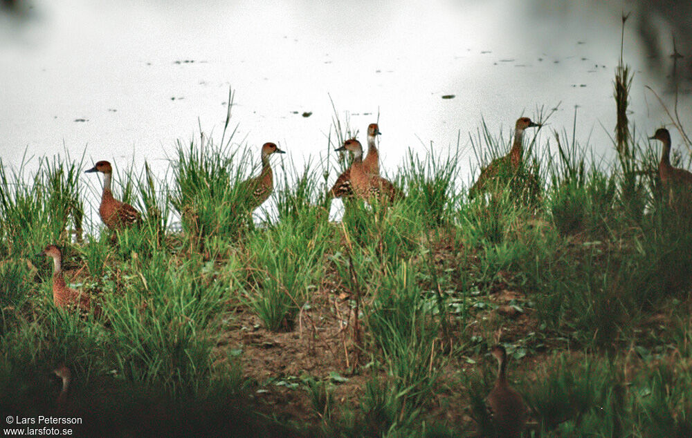
[{"label": "wide green grass clump between the lower-left duck and bare brown soil", "polygon": [[139,284],[111,295],[106,308],[113,361],[128,380],[194,393],[210,374],[208,329],[225,289],[200,273],[199,257],[170,260],[159,251],[135,267]]}]

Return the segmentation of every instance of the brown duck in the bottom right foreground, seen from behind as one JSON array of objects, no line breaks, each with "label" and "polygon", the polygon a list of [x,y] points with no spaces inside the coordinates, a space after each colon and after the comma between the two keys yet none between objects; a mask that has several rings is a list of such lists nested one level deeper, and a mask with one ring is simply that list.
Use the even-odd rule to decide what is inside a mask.
[{"label": "brown duck in the bottom right foreground, seen from behind", "polygon": [[495,345],[490,352],[498,359],[498,378],[486,406],[498,437],[518,437],[526,424],[527,409],[521,395],[507,383],[507,350]]}]

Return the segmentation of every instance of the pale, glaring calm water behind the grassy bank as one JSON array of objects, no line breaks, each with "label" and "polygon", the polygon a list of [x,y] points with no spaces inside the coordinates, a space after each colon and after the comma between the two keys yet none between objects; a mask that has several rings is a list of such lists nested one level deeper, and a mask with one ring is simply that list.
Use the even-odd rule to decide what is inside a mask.
[{"label": "pale, glaring calm water behind the grassy bank", "polygon": [[[361,133],[379,113],[390,172],[408,147],[447,150],[460,132],[466,173],[475,164],[468,133],[481,116],[493,132],[507,131],[522,113],[558,102],[551,128],[571,133],[579,106],[576,138],[590,138],[597,153],[611,149],[619,3],[260,3],[33,0],[30,10],[1,13],[3,162],[19,164],[25,149],[53,155],[66,147],[87,162],[135,160],[139,169],[146,159],[162,173],[175,140],[198,136],[198,121],[220,137],[229,86],[237,92],[235,139],[277,142],[298,164],[327,153],[330,96]],[[640,12],[628,7],[631,117],[639,133],[653,133],[667,119],[644,86],[672,106],[665,71],[673,48],[662,40],[663,67],[650,73]],[[657,25],[666,32],[665,21]],[[692,120],[687,88],[683,121]]]}]

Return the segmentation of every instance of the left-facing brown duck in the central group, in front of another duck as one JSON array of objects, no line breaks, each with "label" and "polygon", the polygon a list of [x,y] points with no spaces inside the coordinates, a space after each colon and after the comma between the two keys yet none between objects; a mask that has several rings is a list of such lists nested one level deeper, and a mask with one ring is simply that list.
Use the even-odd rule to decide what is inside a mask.
[{"label": "left-facing brown duck in the central group, in front of another duck", "polygon": [[353,153],[353,164],[351,165],[351,181],[354,194],[358,198],[367,200],[368,198],[380,198],[381,200],[403,199],[403,192],[394,184],[385,180],[379,175],[367,173],[363,168],[363,146],[356,139],[346,140],[337,152],[350,151]]}]

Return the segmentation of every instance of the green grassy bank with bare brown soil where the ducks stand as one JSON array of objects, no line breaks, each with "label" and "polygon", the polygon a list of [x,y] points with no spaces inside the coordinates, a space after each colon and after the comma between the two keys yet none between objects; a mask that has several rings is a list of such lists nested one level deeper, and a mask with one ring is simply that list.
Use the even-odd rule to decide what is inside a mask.
[{"label": "green grassy bank with bare brown soil where the ducks stand", "polygon": [[[410,153],[388,175],[404,200],[349,203],[340,222],[326,201],[338,165],[297,169],[290,150],[253,220],[236,183],[259,160],[226,130],[179,142],[166,178],[113,175],[143,216],[115,242],[84,215],[83,159],[0,162],[1,411],[56,412],[64,364],[60,409],[84,434],[489,434],[499,342],[531,433],[692,435],[692,218],[666,202],[659,144],[626,118],[630,83],[617,70],[613,162],[544,126],[520,171],[469,200],[459,145]],[[332,150],[355,133],[336,118]],[[511,137],[475,133],[482,162],[509,151]],[[101,318],[53,305],[33,256],[51,243]]]}]

